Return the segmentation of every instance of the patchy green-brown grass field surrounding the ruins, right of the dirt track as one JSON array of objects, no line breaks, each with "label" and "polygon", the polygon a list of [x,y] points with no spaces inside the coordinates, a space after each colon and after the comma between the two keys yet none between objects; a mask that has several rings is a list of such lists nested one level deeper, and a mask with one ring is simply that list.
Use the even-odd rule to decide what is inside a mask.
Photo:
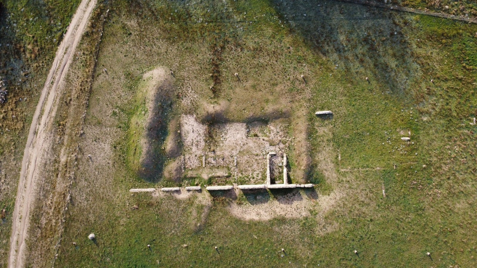
[{"label": "patchy green-brown grass field surrounding the ruins, right of the dirt track", "polygon": [[[105,5],[111,13],[56,267],[476,266],[477,126],[470,123],[477,115],[477,25],[339,1]],[[474,4],[461,5],[468,11]],[[303,179],[315,188],[130,194],[181,185],[148,183],[131,169],[129,146],[138,138],[131,122],[144,108],[137,90],[158,66],[176,79],[164,120],[200,117],[210,105],[223,107],[231,122],[289,114],[280,120],[295,144],[291,175],[308,165]],[[317,118],[316,110],[332,110],[333,119]],[[243,220],[231,213],[235,205],[259,209],[290,195],[291,209],[305,204],[307,216]],[[12,200],[0,202],[11,207]],[[4,248],[8,224],[1,230]],[[95,241],[87,238],[92,232]]]}]

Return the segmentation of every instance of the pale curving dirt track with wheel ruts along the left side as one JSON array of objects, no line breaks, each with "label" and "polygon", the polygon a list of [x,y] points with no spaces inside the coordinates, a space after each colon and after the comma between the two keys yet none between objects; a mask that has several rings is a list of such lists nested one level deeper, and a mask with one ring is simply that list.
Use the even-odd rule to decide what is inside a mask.
[{"label": "pale curving dirt track with wheel ruts along the left side", "polygon": [[21,163],[20,180],[13,211],[12,232],[10,237],[10,255],[8,267],[23,267],[25,256],[25,238],[28,230],[29,210],[32,189],[35,188],[35,177],[38,176],[37,164],[41,163],[39,154],[44,145],[46,127],[54,118],[54,105],[56,105],[56,93],[61,86],[74,51],[81,40],[84,29],[88,24],[88,19],[96,5],[96,0],[82,0],[78,10],[68,27],[63,41],[58,47],[52,68],[48,74],[40,100],[36,107],[31,121],[30,132],[28,134],[23,161]]}]

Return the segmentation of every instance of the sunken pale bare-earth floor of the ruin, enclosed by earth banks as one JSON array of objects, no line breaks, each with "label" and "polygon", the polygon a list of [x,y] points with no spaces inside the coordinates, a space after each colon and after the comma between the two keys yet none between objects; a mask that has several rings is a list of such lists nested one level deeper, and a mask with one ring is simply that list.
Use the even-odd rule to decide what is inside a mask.
[{"label": "sunken pale bare-earth floor of the ruin, enclosed by earth banks", "polygon": [[181,115],[180,129],[186,177],[213,177],[216,184],[228,177],[243,184],[263,184],[270,152],[277,153],[270,162],[278,178],[277,167],[290,148],[283,123],[276,121],[207,125],[194,115]]}]

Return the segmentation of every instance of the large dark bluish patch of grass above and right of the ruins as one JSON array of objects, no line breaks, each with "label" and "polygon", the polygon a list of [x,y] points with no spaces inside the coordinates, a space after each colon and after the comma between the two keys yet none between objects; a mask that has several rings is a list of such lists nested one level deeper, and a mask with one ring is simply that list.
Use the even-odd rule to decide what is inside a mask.
[{"label": "large dark bluish patch of grass above and right of the ruins", "polygon": [[403,12],[341,1],[270,0],[281,21],[354,79],[404,93],[415,70]]}]

